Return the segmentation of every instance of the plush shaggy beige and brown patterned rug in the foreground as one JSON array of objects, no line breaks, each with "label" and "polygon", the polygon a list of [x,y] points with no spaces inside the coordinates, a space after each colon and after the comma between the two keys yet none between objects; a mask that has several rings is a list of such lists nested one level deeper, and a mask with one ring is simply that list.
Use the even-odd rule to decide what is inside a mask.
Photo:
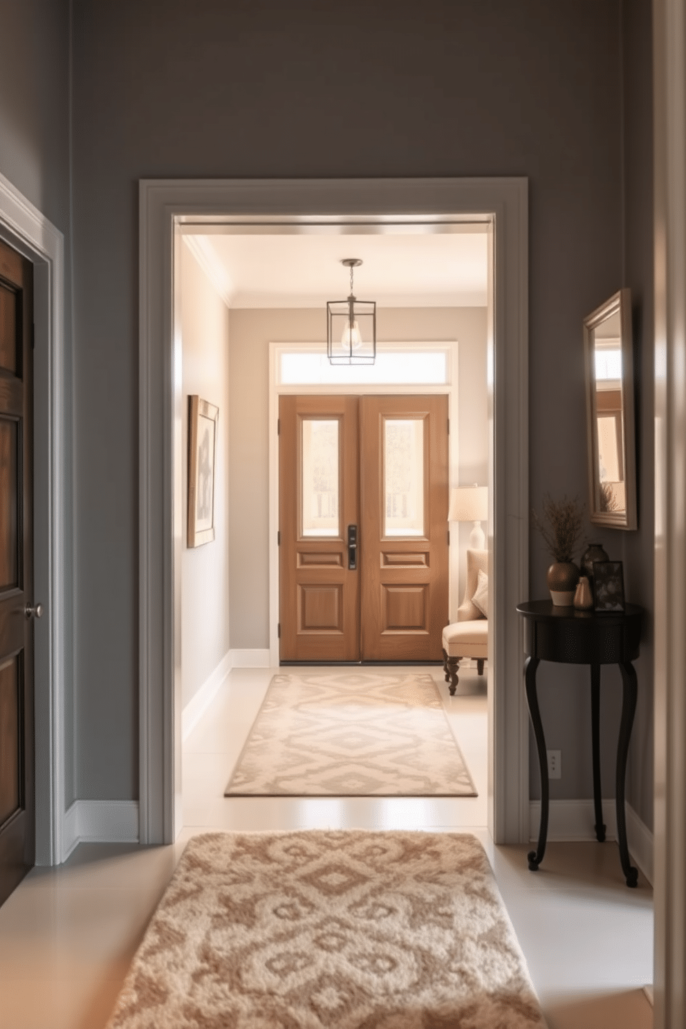
[{"label": "plush shaggy beige and brown patterned rug in the foreground", "polygon": [[544,1029],[472,836],[195,837],[109,1029]]}]

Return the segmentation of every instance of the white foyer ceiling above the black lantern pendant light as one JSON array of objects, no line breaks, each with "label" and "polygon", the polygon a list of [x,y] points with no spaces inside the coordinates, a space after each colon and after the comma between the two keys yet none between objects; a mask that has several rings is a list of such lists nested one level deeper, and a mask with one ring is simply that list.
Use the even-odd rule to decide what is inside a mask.
[{"label": "white foyer ceiling above the black lantern pendant light", "polygon": [[[465,230],[467,228],[468,230]],[[232,308],[318,308],[355,295],[380,307],[484,307],[482,227],[393,235],[194,235],[186,241]],[[335,230],[334,230],[335,232]]]}]

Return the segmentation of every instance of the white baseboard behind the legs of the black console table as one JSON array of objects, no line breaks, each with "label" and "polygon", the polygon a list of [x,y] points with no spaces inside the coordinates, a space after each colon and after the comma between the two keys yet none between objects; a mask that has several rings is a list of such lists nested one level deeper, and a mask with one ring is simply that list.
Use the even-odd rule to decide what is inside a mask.
[{"label": "white baseboard behind the legs of the black console table", "polygon": [[[633,861],[639,866],[645,878],[653,882],[653,833],[637,815],[634,808],[626,805],[626,842]],[[604,797],[603,819],[607,840],[617,839],[617,815],[614,797]],[[541,802],[532,801],[529,805],[530,840],[538,840],[538,827],[541,821]],[[594,840],[595,813],[593,802],[585,801],[550,801],[548,810],[548,840],[550,842]]]}]

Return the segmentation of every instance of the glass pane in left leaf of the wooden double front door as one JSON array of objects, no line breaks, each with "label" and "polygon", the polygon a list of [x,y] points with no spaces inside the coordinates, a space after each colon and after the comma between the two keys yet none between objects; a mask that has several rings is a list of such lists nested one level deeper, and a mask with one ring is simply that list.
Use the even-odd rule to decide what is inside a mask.
[{"label": "glass pane in left leaf of the wooden double front door", "polygon": [[303,418],[302,536],[340,536],[338,420]]}]

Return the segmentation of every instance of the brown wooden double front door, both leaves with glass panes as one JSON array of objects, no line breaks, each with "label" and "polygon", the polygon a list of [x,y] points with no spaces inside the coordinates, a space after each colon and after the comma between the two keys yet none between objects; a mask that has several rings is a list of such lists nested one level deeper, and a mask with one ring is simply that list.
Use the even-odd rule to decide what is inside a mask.
[{"label": "brown wooden double front door, both leaves with glass panes", "polygon": [[282,396],[282,661],[439,661],[447,397]]}]

